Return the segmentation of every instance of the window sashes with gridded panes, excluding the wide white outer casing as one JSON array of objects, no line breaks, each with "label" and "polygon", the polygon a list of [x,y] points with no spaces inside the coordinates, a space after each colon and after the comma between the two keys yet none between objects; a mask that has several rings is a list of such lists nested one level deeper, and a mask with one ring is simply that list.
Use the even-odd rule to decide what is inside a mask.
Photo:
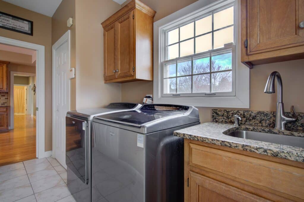
[{"label": "window sashes with gridded panes, excluding the wide white outer casing", "polygon": [[234,95],[234,4],[164,30],[163,96]]}]

